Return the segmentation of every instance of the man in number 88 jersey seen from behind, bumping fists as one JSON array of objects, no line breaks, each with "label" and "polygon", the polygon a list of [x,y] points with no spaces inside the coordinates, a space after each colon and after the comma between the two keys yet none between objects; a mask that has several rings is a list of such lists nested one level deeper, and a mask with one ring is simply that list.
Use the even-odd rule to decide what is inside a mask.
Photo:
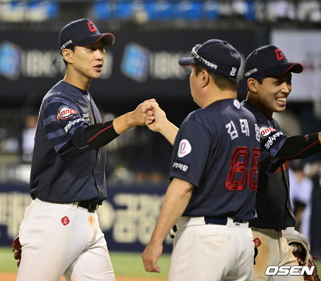
[{"label": "man in number 88 jersey seen from behind, bumping fists", "polygon": [[252,280],[259,131],[236,99],[239,52],[229,43],[196,45],[179,64],[192,66],[191,94],[201,108],[179,130],[159,107],[146,121],[174,144],[170,183],[142,258],[160,272],[162,243],[176,225],[169,281]]}]

